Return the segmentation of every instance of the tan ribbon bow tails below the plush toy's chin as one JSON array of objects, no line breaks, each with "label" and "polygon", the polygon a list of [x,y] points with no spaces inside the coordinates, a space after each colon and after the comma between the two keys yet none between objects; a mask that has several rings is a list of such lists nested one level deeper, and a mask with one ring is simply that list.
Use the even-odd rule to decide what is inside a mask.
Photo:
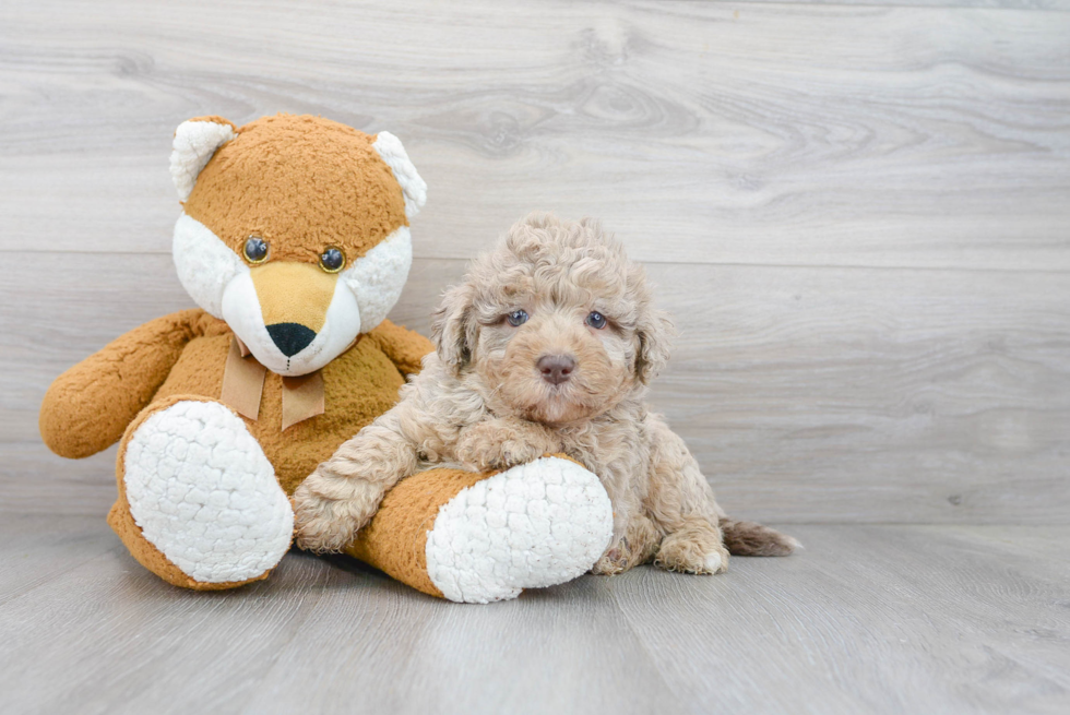
[{"label": "tan ribbon bow tails below the plush toy's chin", "polygon": [[[255,420],[264,393],[268,368],[260,365],[237,335],[230,341],[223,370],[219,400],[242,417]],[[297,378],[283,378],[283,431],[292,425],[322,415],[326,406],[320,370]]]}]

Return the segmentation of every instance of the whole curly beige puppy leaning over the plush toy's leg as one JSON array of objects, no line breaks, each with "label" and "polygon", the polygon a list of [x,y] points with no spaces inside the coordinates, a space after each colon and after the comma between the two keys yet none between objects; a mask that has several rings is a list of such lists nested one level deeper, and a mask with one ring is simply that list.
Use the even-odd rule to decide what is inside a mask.
[{"label": "whole curly beige puppy leaning over the plush toy's leg", "polygon": [[790,553],[795,539],[727,519],[683,440],[647,410],[671,333],[642,266],[596,222],[528,216],[447,290],[437,351],[401,402],[297,489],[298,545],[343,548],[387,490],[430,465],[485,470],[563,452],[614,504],[595,573],[652,560],[718,573],[729,551]]}]

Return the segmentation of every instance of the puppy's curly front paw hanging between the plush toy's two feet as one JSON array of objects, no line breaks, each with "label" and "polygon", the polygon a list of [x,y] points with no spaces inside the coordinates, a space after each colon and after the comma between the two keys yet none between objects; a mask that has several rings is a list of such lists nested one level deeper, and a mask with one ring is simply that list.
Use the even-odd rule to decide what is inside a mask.
[{"label": "puppy's curly front paw hanging between the plush toy's two feet", "polygon": [[379,509],[382,490],[377,485],[335,479],[313,473],[294,491],[295,538],[306,551],[341,551]]}]

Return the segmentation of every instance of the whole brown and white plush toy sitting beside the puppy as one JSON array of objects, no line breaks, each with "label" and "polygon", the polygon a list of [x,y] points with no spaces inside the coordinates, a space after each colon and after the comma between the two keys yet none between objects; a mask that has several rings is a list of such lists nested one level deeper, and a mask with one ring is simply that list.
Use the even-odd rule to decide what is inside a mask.
[{"label": "whole brown and white plush toy sitting beside the puppy", "polygon": [[[168,583],[231,588],[290,547],[288,494],[389,409],[433,346],[385,320],[426,184],[401,142],[317,117],[218,117],[175,133],[174,258],[200,309],[151,321],[60,376],[57,454],[119,441],[108,523]],[[487,603],[585,572],[609,540],[598,479],[547,457],[402,481],[348,550],[425,593]]]}]

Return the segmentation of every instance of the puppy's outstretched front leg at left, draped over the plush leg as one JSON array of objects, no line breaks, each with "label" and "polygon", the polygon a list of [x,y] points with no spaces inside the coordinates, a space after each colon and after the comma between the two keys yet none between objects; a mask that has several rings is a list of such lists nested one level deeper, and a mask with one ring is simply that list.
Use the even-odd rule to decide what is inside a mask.
[{"label": "puppy's outstretched front leg at left, draped over the plush leg", "polygon": [[417,443],[401,422],[413,407],[402,402],[346,441],[294,491],[297,545],[338,551],[356,537],[399,479],[416,473]]}]

